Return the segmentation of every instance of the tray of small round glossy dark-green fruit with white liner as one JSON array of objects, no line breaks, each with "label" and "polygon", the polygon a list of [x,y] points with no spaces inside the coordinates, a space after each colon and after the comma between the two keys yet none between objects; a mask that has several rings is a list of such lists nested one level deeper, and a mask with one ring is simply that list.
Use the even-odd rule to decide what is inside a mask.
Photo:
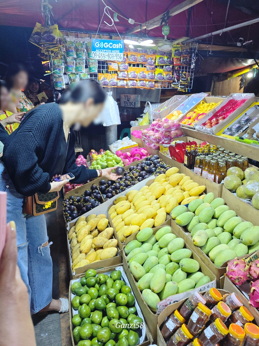
[{"label": "tray of small round glossy dark-green fruit with white liner", "polygon": [[[129,307],[132,307],[132,308],[135,308],[135,309],[132,309],[132,310],[135,310],[135,312],[133,312],[134,313],[134,315],[136,314],[136,317],[135,317],[135,320],[136,320],[136,326],[137,325],[140,325],[140,322],[144,322],[144,317],[143,317],[143,315],[142,315],[142,312],[141,312],[141,309],[140,309],[140,307],[139,307],[139,305],[138,305],[138,303],[137,303],[137,300],[135,299],[135,297],[134,297],[134,294],[133,293],[130,293],[130,292],[132,292],[132,290],[131,290],[131,286],[130,286],[130,283],[128,282],[128,279],[127,279],[127,276],[126,276],[126,274],[125,274],[125,272],[124,272],[124,270],[123,270],[123,267],[122,266],[118,266],[118,267],[111,267],[110,268],[111,270],[113,270],[113,271],[108,271],[108,272],[106,272],[105,270],[102,270],[102,271],[95,271],[95,270],[92,270],[92,269],[90,269],[90,270],[88,270],[88,272],[86,273],[86,276],[88,276],[88,277],[90,277],[92,280],[90,280],[91,282],[89,283],[90,284],[90,286],[87,286],[87,279],[86,279],[86,276],[83,276],[83,277],[81,277],[81,278],[78,278],[78,279],[75,279],[75,280],[71,280],[70,281],[70,285],[69,285],[69,316],[70,316],[70,330],[71,330],[71,338],[72,338],[72,341],[73,341],[73,345],[75,345],[75,344],[77,344],[77,342],[79,341],[79,339],[89,339],[89,338],[91,338],[91,336],[92,336],[92,332],[93,332],[93,328],[91,328],[91,327],[89,327],[89,328],[85,328],[85,330],[84,331],[82,331],[81,330],[81,328],[79,329],[79,328],[77,328],[77,326],[80,326],[81,325],[81,323],[82,323],[82,321],[83,321],[83,316],[85,316],[86,318],[89,318],[89,316],[90,316],[90,313],[91,313],[91,311],[99,311],[99,313],[96,313],[95,314],[95,316],[93,317],[91,317],[90,319],[93,319],[93,318],[95,318],[96,319],[96,321],[95,321],[95,325],[96,326],[100,326],[100,324],[101,324],[101,322],[103,322],[103,324],[106,326],[106,324],[109,322],[109,324],[108,324],[108,327],[106,327],[107,329],[109,329],[109,330],[105,330],[105,332],[107,332],[107,334],[110,334],[110,336],[109,335],[103,335],[103,336],[100,336],[100,335],[98,335],[98,337],[104,337],[104,338],[106,338],[107,337],[107,339],[108,340],[106,340],[105,341],[105,343],[106,342],[108,342],[109,340],[112,340],[112,339],[110,339],[111,338],[111,332],[112,333],[115,333],[115,334],[118,334],[119,332],[121,332],[122,331],[122,327],[116,327],[116,325],[114,326],[114,323],[116,322],[116,323],[120,323],[121,322],[121,324],[122,324],[122,322],[123,322],[123,324],[124,323],[128,323],[128,321],[124,318],[124,320],[121,320],[121,321],[119,321],[119,316],[121,316],[120,314],[122,314],[123,315],[123,313],[125,313],[126,315],[128,315],[129,316],[129,308],[124,308],[124,309],[121,309],[121,310],[123,310],[123,311],[120,311],[120,314],[119,313],[117,313],[117,311],[114,311],[114,315],[115,315],[115,312],[116,312],[116,316],[118,316],[118,318],[116,319],[111,319],[111,318],[107,318],[107,316],[106,316],[106,319],[105,319],[105,316],[103,316],[103,313],[100,313],[100,312],[102,312],[102,309],[103,309],[103,307],[104,307],[104,310],[106,311],[106,309],[105,309],[105,307],[106,307],[106,304],[107,304],[107,302],[108,301],[112,301],[112,300],[114,300],[115,299],[115,297],[112,299],[109,299],[108,297],[107,297],[107,295],[105,294],[105,296],[103,296],[103,298],[98,298],[98,290],[95,288],[95,287],[92,287],[92,285],[93,285],[93,282],[92,281],[94,281],[93,279],[94,278],[96,278],[96,275],[97,275],[97,278],[96,279],[98,279],[100,282],[102,282],[104,279],[106,279],[107,280],[107,278],[105,278],[105,277],[103,277],[104,275],[108,275],[109,277],[113,277],[114,278],[114,280],[113,281],[119,281],[121,278],[123,279],[123,281],[125,282],[125,284],[128,286],[128,293],[127,294],[129,294],[129,296],[127,296],[127,295],[125,295],[125,294],[123,294],[123,293],[118,293],[118,295],[119,295],[119,297],[118,297],[118,300],[116,300],[116,302],[118,301],[118,303],[119,304],[121,304],[121,306],[125,306],[125,299],[131,299],[131,300],[133,300],[133,304],[131,303],[131,305],[129,305]],[[98,273],[98,274],[97,274]],[[104,274],[104,275],[102,275],[102,274]],[[116,279],[116,278],[118,278],[118,279]],[[105,280],[105,281],[106,281]],[[111,281],[111,280],[110,280]],[[79,284],[76,284],[76,282],[78,282]],[[81,285],[81,283],[83,283],[83,286]],[[97,280],[95,280],[95,282],[97,282]],[[112,281],[111,281],[112,282]],[[118,284],[120,283],[120,282],[117,282]],[[110,282],[109,282],[109,284],[111,284]],[[86,288],[88,288],[88,289],[86,289],[85,291],[86,292],[88,292],[88,290],[91,290],[91,295],[90,295],[90,297],[88,297],[88,294],[87,295],[85,295],[84,296],[84,298],[85,299],[87,299],[87,298],[89,298],[89,299],[99,299],[98,300],[98,303],[99,303],[99,306],[98,307],[100,307],[100,309],[96,309],[95,307],[94,307],[94,305],[93,304],[91,304],[91,309],[89,308],[89,306],[88,306],[88,304],[90,304],[91,303],[91,301],[88,301],[89,299],[87,299],[86,301],[87,301],[87,303],[85,303],[86,305],[84,306],[85,307],[85,311],[84,312],[80,312],[81,313],[81,315],[83,315],[82,317],[78,314],[78,310],[77,309],[75,309],[78,305],[79,306],[82,306],[81,305],[81,303],[79,302],[79,299],[76,299],[76,297],[78,297],[77,295],[76,295],[76,293],[77,293],[77,289],[78,288],[75,288],[76,287],[76,285],[78,285],[78,286],[80,286],[81,288],[80,288],[80,290],[83,290],[83,287],[86,287]],[[100,285],[101,286],[101,285]],[[71,290],[72,289],[72,290]],[[100,288],[99,288],[100,289]],[[106,286],[106,288],[104,288],[104,291],[107,291],[107,286]],[[115,290],[115,289],[113,289],[113,290]],[[120,291],[121,289],[119,289],[118,290],[118,292]],[[72,292],[73,291],[73,292]],[[80,297],[80,294],[81,294],[82,292],[80,291],[80,292],[78,292],[78,294],[79,294],[79,297]],[[114,293],[117,293],[117,292],[110,292],[111,294],[114,294]],[[84,294],[84,293],[83,293]],[[97,297],[96,297],[96,294],[97,294]],[[82,294],[81,294],[82,295]],[[121,297],[122,296],[122,297]],[[126,298],[125,298],[125,296],[126,296]],[[93,297],[96,297],[96,298],[93,298]],[[96,299],[96,300],[97,300]],[[105,301],[105,300],[107,300],[107,302]],[[123,302],[119,302],[119,299],[121,299],[121,300],[123,300]],[[95,301],[96,302],[96,301]],[[103,304],[103,305],[102,305]],[[126,303],[126,304],[128,304],[128,303]],[[112,306],[112,305],[111,305]],[[116,309],[117,310],[117,309]],[[124,310],[126,310],[126,311],[124,311]],[[112,311],[111,311],[111,313],[112,313]],[[101,317],[99,316],[99,315],[102,315]],[[125,315],[123,315],[123,316],[125,316]],[[122,317],[121,317],[122,318]],[[97,321],[98,320],[98,321]],[[85,324],[87,324],[87,320],[85,320]],[[114,323],[113,323],[114,322]],[[83,324],[84,325],[84,324]],[[90,325],[92,325],[92,321],[91,321],[91,324]],[[76,329],[77,328],[77,329]],[[104,328],[104,327],[103,327]],[[112,330],[113,331],[111,331],[111,328],[112,328]],[[152,338],[150,338],[150,333],[149,333],[149,331],[147,330],[147,328],[146,328],[146,325],[145,325],[145,322],[142,324],[142,328],[134,328],[134,327],[132,326],[132,328],[128,328],[128,329],[130,329],[131,331],[133,331],[134,333],[137,333],[138,335],[136,335],[136,334],[133,334],[132,333],[132,335],[131,335],[131,337],[133,337],[133,339],[134,339],[134,342],[133,342],[133,339],[131,340],[132,341],[132,346],[137,346],[137,345],[141,345],[141,346],[146,346],[146,345],[148,345],[149,343],[150,343],[150,341],[151,341],[151,339]],[[76,329],[76,330],[75,330]],[[101,330],[102,329],[102,327],[101,328],[96,328],[98,331],[99,330]],[[125,329],[125,328],[124,328]],[[96,334],[97,334],[97,330],[96,330]],[[118,330],[118,331],[117,331]],[[86,336],[86,335],[84,335],[83,336],[83,334],[84,333],[89,333],[89,334],[91,334],[89,337],[88,337],[88,335]],[[80,334],[79,334],[80,333]],[[125,333],[125,336],[126,336],[126,338],[128,338],[127,337],[127,335],[129,335],[129,333]],[[116,335],[114,336],[114,337],[116,337]],[[113,338],[114,338],[113,337]],[[138,339],[138,341],[137,341],[137,339]],[[93,340],[92,340],[93,341]],[[96,345],[98,345],[99,343],[98,343],[98,341],[96,340]],[[113,345],[113,344],[112,344]],[[115,344],[116,345],[116,344]]]}]

